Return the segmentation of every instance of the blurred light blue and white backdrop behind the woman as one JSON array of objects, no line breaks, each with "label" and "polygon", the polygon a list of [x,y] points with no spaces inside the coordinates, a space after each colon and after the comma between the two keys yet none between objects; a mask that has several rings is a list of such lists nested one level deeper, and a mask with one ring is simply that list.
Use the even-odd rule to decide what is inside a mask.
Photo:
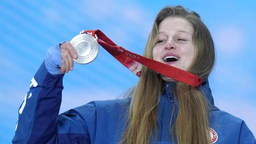
[{"label": "blurred light blue and white backdrop behind the woman", "polygon": [[[256,135],[255,0],[2,0],[0,3],[0,143],[11,143],[18,108],[49,47],[82,30],[100,29],[142,54],[162,7],[181,4],[201,15],[216,46],[209,78],[215,104],[244,119]],[[118,97],[138,78],[100,47],[95,61],[64,77],[61,112]]]}]

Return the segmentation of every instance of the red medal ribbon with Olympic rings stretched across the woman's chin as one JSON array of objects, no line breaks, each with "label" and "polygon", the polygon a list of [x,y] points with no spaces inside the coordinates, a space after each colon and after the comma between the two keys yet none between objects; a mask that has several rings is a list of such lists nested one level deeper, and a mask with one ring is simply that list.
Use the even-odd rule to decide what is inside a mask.
[{"label": "red medal ribbon with Olympic rings stretched across the woman's chin", "polygon": [[96,36],[98,37],[98,43],[114,58],[116,58],[126,68],[128,68],[137,76],[140,76],[142,65],[145,65],[146,67],[151,68],[154,71],[157,71],[172,79],[176,79],[182,83],[187,83],[190,86],[198,87],[202,83],[201,77],[196,76],[190,72],[186,72],[171,65],[166,65],[159,61],[143,57],[139,54],[135,54],[131,51],[125,50],[123,47],[117,46],[99,29],[86,30],[84,32],[91,34],[93,37],[95,37],[96,34]]}]

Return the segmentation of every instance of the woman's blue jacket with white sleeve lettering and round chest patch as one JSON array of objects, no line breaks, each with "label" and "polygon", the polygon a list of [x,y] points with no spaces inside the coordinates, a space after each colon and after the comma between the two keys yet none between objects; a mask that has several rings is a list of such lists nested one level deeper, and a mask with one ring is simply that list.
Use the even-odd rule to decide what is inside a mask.
[{"label": "woman's blue jacket with white sleeve lettering and round chest patch", "polygon": [[[44,63],[40,66],[19,108],[12,142],[14,144],[117,144],[121,139],[130,99],[92,101],[59,115],[63,76],[51,75]],[[256,144],[252,132],[243,120],[214,106],[208,83],[200,88],[205,92],[212,108],[209,131],[212,142]],[[169,125],[173,106],[172,90],[167,88],[161,96],[158,107],[157,144],[172,144]],[[175,111],[176,114],[177,112],[178,110]],[[154,144],[154,138],[151,143]]]}]

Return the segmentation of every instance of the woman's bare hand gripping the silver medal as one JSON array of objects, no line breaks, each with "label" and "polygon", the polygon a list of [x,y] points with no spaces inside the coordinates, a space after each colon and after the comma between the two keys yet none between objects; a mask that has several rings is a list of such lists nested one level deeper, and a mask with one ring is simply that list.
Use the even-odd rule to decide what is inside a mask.
[{"label": "woman's bare hand gripping the silver medal", "polygon": [[61,51],[61,73],[68,73],[69,70],[73,71],[74,63],[73,59],[77,59],[77,52],[71,43],[65,42],[60,45]]}]

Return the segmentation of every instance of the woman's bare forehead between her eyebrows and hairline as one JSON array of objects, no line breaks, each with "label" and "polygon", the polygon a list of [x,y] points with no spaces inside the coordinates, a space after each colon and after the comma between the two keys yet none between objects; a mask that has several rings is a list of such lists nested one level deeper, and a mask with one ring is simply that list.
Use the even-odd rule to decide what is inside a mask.
[{"label": "woman's bare forehead between her eyebrows and hairline", "polygon": [[185,18],[168,17],[158,26],[159,32],[187,32],[191,36],[194,34],[193,25]]}]

